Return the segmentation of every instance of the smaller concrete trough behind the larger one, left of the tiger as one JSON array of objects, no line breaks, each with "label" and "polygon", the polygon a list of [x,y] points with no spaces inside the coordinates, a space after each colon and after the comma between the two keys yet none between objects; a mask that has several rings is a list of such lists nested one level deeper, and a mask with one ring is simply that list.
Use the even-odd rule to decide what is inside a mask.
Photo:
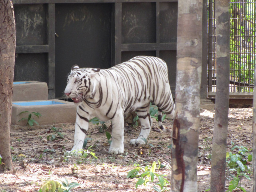
[{"label": "smaller concrete trough behind the larger one, left of the tiger", "polygon": [[[13,84],[12,101],[31,101],[48,99],[48,86],[45,82],[23,81],[26,83]],[[18,82],[14,82],[18,83]],[[20,82],[21,83],[21,82]]]}]

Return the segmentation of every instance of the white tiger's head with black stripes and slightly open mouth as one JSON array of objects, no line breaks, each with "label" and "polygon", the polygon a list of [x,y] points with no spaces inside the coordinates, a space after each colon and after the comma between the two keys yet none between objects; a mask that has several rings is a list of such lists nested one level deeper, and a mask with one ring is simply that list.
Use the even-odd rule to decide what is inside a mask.
[{"label": "white tiger's head with black stripes and slightly open mouth", "polygon": [[91,82],[92,76],[100,71],[100,68],[79,68],[73,65],[68,76],[65,95],[71,98],[74,103],[82,102],[84,97],[90,97],[94,91],[94,84]]}]

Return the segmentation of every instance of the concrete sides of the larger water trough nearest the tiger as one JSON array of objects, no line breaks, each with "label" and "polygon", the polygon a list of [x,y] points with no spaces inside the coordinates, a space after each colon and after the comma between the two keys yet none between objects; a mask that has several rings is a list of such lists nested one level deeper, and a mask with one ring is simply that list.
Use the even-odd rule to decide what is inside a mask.
[{"label": "concrete sides of the larger water trough nearest the tiger", "polygon": [[[39,101],[25,101],[25,102],[40,102],[40,101],[54,101],[63,104],[52,104],[52,105],[29,105],[20,106],[13,102],[12,103],[12,125],[26,126],[27,121],[21,118],[27,118],[28,112],[39,112],[42,116],[37,118],[32,115],[32,118],[36,120],[39,125],[53,125],[60,123],[74,123],[76,121],[76,105],[73,102],[53,99],[53,100],[39,100]],[[20,102],[20,101],[19,101]],[[28,111],[20,114],[20,112]],[[20,114],[20,115],[19,115]]]}]

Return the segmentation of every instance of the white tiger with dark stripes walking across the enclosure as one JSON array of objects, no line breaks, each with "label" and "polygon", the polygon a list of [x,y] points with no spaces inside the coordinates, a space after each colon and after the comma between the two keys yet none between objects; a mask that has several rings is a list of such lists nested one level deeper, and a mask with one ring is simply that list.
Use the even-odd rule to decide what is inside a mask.
[{"label": "white tiger with dark stripes walking across the enclosure", "polygon": [[168,81],[166,63],[152,56],[136,56],[109,69],[72,66],[64,93],[77,104],[74,146],[70,152],[82,150],[89,118],[111,120],[110,154],[124,153],[124,114],[136,111],[141,132],[130,144],[144,144],[152,119],[150,102],[158,106],[158,124],[162,131],[162,111],[174,118],[174,102]]}]

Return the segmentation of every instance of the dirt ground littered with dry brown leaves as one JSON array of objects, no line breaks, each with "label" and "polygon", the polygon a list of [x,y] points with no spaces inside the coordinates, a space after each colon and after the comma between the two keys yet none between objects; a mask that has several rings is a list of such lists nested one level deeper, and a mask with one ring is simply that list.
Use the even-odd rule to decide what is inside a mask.
[{"label": "dirt ground littered with dry brown leaves", "polygon": [[[210,154],[214,128],[214,112],[201,110],[200,140],[198,151],[198,192],[210,188]],[[164,125],[171,128],[171,120],[165,120]],[[107,124],[109,125],[109,124]],[[53,125],[52,125],[53,126]],[[146,166],[152,162],[166,165],[156,170],[164,174],[170,181],[171,144],[170,134],[158,132],[158,126],[150,132],[148,145],[142,147],[130,146],[129,141],[137,138],[140,127],[127,128],[124,136],[124,154],[109,155],[106,133],[99,132],[97,126],[91,125],[88,130],[88,146],[92,145],[94,158],[88,155],[64,156],[66,150],[73,146],[74,124],[55,126],[63,135],[50,140],[50,135],[57,135],[52,126],[40,126],[40,129],[11,131],[11,153],[13,159],[13,172],[0,174],[0,192],[37,192],[44,182],[51,180],[77,182],[80,186],[73,188],[73,192],[151,192],[155,183],[147,186],[138,186],[136,178],[126,178],[128,172],[136,166]],[[17,127],[16,127],[17,128]],[[19,128],[19,127],[18,127]],[[34,127],[34,128],[38,128]],[[109,130],[108,130],[109,131]],[[47,140],[47,137],[49,140]],[[252,148],[252,108],[230,108],[228,128],[228,151],[231,142],[237,146]],[[252,167],[252,165],[249,165]],[[227,174],[228,175],[228,174]],[[250,176],[252,179],[252,175]],[[228,187],[227,176],[226,186]],[[247,192],[252,191],[252,181],[242,180],[242,186]],[[170,190],[170,186],[167,187]]]}]

